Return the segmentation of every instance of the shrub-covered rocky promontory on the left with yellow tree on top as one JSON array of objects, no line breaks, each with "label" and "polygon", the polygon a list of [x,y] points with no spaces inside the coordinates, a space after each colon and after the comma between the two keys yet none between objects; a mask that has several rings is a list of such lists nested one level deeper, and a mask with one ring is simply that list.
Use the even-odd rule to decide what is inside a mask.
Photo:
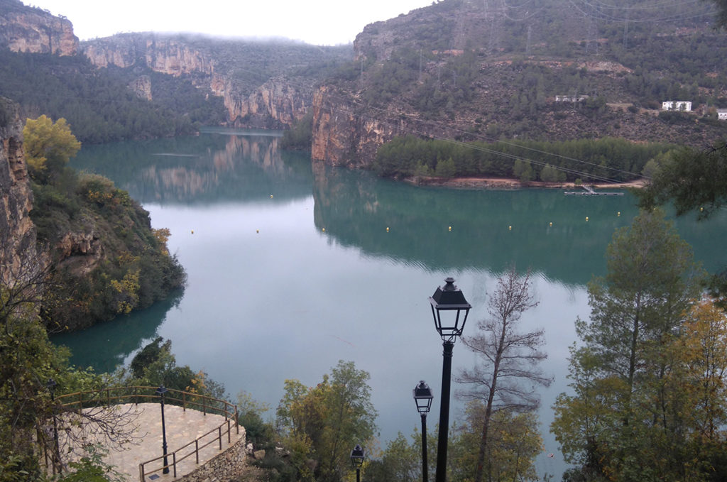
[{"label": "shrub-covered rocky promontory on the left with yellow tree on top", "polygon": [[[61,120],[31,121],[31,128],[25,129],[26,142],[44,145],[35,154],[41,161],[31,175],[31,219],[52,260],[52,289],[42,314],[54,330],[79,329],[147,308],[185,283],[184,270],[166,248],[169,230],[151,228],[149,213],[129,193],[103,176],[79,174],[65,166],[77,148],[70,154],[60,149],[63,156],[53,162],[41,156],[41,151],[56,150],[54,140],[65,145],[71,138],[76,141]],[[52,132],[58,124],[63,135],[38,142],[39,133],[32,126]]]}]

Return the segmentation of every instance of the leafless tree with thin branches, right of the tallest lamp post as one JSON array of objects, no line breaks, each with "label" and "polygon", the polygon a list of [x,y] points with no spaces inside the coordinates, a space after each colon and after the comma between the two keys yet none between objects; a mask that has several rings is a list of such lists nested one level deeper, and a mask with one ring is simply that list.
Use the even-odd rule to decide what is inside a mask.
[{"label": "leafless tree with thin branches, right of the tallest lamp post", "polygon": [[462,370],[457,378],[457,382],[470,386],[460,395],[485,406],[475,482],[482,481],[493,412],[533,411],[540,401],[536,386],[547,387],[553,382],[538,368],[547,358],[539,350],[545,344],[543,330],[518,331],[522,314],[538,305],[531,291],[530,273],[520,276],[515,267],[511,268],[497,280],[497,289],[487,304],[489,317],[478,323],[478,333],[462,338],[465,346],[483,359],[473,369]]}]

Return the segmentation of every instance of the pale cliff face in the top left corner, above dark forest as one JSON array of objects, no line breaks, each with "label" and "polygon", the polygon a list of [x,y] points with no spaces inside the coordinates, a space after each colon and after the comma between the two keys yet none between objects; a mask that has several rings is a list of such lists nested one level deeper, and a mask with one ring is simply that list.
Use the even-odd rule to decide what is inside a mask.
[{"label": "pale cliff face in the top left corner, above dark forest", "polygon": [[73,24],[17,0],[0,1],[0,46],[13,52],[76,55],[79,39]]}]

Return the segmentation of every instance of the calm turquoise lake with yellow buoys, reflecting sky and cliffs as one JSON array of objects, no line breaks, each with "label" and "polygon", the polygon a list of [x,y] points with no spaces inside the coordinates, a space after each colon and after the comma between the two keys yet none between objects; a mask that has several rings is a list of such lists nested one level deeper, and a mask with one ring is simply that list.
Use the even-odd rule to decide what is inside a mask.
[{"label": "calm turquoise lake with yellow buoys, reflecting sky and cliffs", "polygon": [[[442,349],[428,298],[447,276],[473,305],[465,335],[486,316],[486,294],[515,264],[531,270],[539,305],[523,329],[545,329],[555,376],[542,390],[545,451],[538,471],[566,465],[547,426],[567,390],[574,321],[587,318],[585,284],[605,274],[614,230],[638,213],[635,198],[563,196],[561,190],[448,190],[312,164],[278,149],[278,133],[209,129],[196,137],[84,146],[77,169],[110,177],[169,228],[188,273],[183,294],[83,332],[55,336],[72,362],[113,370],[156,336],[177,364],[203,369],[236,397],[274,410],[285,379],[309,386],[339,360],[371,374],[380,445],[413,432],[411,390],[424,379],[438,420]],[[677,220],[705,268],[724,263],[727,214]],[[454,348],[453,375],[477,361]],[[453,394],[459,390],[453,382]],[[451,422],[461,416],[453,400]],[[555,457],[545,457],[553,453]]]}]

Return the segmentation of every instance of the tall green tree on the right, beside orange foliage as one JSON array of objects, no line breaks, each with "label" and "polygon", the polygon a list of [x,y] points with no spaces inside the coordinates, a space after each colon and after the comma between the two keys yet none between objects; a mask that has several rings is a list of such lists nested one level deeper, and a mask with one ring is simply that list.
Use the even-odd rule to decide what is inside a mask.
[{"label": "tall green tree on the right, beside orange foliage", "polygon": [[[710,480],[723,442],[704,437],[702,418],[723,414],[694,408],[714,403],[696,387],[725,382],[723,361],[710,361],[721,342],[705,343],[707,333],[720,336],[724,315],[696,308],[702,270],[659,209],[616,231],[606,257],[606,276],[588,285],[590,320],[576,324],[582,345],[571,348],[572,391],[553,407],[551,430],[576,465],[569,477]],[[696,323],[703,318],[707,324]]]}]

